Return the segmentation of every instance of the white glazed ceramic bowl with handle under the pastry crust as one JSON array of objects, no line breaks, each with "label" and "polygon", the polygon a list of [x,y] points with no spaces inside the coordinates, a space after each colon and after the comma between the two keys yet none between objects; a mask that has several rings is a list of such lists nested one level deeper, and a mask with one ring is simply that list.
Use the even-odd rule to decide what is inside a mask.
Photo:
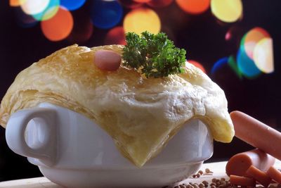
[{"label": "white glazed ceramic bowl with handle under the pastry crust", "polygon": [[163,187],[195,173],[213,153],[206,125],[192,120],[142,168],[124,158],[112,138],[84,115],[40,104],[11,115],[8,146],[65,187]]}]

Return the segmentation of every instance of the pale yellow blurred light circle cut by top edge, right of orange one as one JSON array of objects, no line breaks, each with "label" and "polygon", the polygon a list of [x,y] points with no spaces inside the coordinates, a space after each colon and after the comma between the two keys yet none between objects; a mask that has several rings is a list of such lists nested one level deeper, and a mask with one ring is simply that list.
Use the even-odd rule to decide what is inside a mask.
[{"label": "pale yellow blurred light circle cut by top edge, right of orange one", "polygon": [[226,23],[233,23],[242,17],[241,0],[211,0],[211,12]]}]

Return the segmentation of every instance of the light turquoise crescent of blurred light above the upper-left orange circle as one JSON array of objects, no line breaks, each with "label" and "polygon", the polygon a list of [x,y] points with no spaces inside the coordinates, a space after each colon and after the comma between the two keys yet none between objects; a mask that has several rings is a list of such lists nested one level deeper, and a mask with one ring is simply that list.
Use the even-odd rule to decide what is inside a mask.
[{"label": "light turquoise crescent of blurred light above the upper-left orange circle", "polygon": [[48,20],[58,12],[59,7],[60,7],[60,0],[50,0],[48,6],[46,6],[46,8],[43,11],[41,11],[41,13],[37,13],[32,16],[33,18],[39,21]]}]

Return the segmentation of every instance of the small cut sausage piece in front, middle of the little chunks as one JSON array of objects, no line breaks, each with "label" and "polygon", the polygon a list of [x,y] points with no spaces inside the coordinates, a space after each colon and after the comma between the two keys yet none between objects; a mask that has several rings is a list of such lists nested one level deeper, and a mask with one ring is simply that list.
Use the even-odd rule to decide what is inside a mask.
[{"label": "small cut sausage piece in front, middle of the little chunks", "polygon": [[262,184],[264,187],[268,187],[271,182],[271,178],[263,171],[251,165],[246,171],[247,175],[253,177],[257,182]]}]

